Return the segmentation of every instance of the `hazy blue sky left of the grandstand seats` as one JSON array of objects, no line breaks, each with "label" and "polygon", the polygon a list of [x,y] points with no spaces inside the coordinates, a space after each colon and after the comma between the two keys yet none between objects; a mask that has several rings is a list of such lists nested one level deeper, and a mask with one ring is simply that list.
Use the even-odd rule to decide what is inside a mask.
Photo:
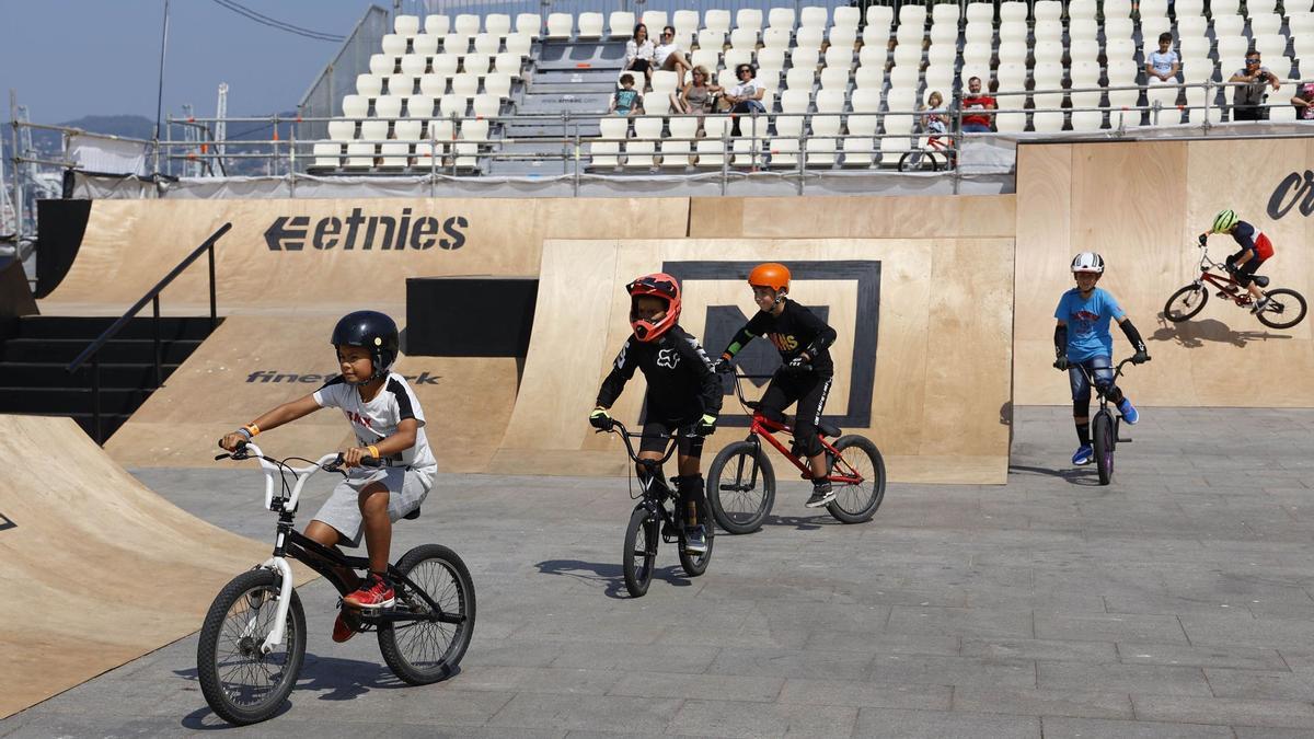
[{"label": "hazy blue sky left of the grandstand seats", "polygon": [[[347,36],[367,0],[239,0],[276,20]],[[392,8],[390,0],[377,3]],[[155,118],[164,0],[0,0],[0,120],[9,89],[34,122],[88,114]],[[164,110],[213,116],[221,82],[229,114],[290,110],[338,42],[265,28],[213,0],[171,0]],[[8,134],[7,134],[8,135]]]}]

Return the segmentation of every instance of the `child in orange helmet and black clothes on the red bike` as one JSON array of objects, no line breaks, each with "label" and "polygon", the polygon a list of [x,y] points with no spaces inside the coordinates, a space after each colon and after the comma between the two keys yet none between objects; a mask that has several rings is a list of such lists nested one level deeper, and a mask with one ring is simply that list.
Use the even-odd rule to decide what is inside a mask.
[{"label": "child in orange helmet and black clothes on the red bike", "polygon": [[805,505],[820,508],[834,500],[830,481],[825,479],[825,455],[817,438],[817,423],[821,422],[821,409],[834,375],[829,347],[836,333],[815,313],[787,297],[790,270],[784,264],[758,264],[749,272],[748,284],[761,310],[735,334],[721,352],[717,368],[728,368],[735,355],[754,337],[766,337],[775,345],[782,367],[766,387],[759,408],[779,422],[790,404],[799,404],[794,441],[812,468],[812,497]]}]

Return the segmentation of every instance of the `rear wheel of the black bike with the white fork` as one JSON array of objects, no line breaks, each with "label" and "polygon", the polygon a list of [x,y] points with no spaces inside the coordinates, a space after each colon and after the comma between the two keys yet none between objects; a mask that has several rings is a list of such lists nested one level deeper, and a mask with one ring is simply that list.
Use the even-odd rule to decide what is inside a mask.
[{"label": "rear wheel of the black bike with the white fork", "polygon": [[[380,622],[378,651],[393,675],[409,685],[445,680],[456,672],[474,634],[474,580],[470,571],[456,552],[442,544],[420,544],[410,550],[397,561],[397,571],[422,588],[443,613],[461,615],[464,621]],[[407,588],[405,584],[397,586],[396,610],[428,613],[430,605]]]}]

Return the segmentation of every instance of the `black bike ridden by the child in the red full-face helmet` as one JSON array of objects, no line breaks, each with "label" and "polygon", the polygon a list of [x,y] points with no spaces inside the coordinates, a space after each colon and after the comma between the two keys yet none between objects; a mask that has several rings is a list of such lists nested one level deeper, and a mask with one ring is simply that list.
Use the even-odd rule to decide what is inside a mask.
[{"label": "black bike ridden by the child in the red full-face helmet", "polygon": [[[707,551],[691,552],[686,546],[679,498],[661,476],[661,465],[675,454],[679,438],[674,434],[670,437],[666,454],[661,459],[640,459],[631,439],[643,438],[643,434],[629,431],[620,421],[612,421],[611,433],[625,442],[629,459],[646,472],[646,475],[639,476],[639,494],[631,493],[629,496],[639,501],[629,514],[629,523],[625,526],[625,548],[622,561],[625,589],[629,590],[629,596],[641,598],[648,593],[648,585],[653,579],[653,567],[657,561],[657,546],[661,542],[677,546],[679,565],[690,577],[698,577],[707,572],[707,564],[712,561],[712,530],[715,526],[707,518],[706,504],[698,502],[698,521],[703,525]],[[668,509],[668,504],[671,504],[674,512]]]}]

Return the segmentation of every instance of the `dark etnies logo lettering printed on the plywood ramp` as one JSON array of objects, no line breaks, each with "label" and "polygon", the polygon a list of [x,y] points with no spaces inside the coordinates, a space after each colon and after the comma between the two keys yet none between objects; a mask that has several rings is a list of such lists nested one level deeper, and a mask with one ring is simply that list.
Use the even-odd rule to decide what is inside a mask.
[{"label": "dark etnies logo lettering printed on the plywood ramp", "polygon": [[413,218],[410,208],[402,208],[401,218],[365,216],[360,208],[352,208],[347,218],[319,218],[313,227],[306,216],[280,216],[264,231],[264,242],[269,251],[301,251],[307,243],[321,251],[338,247],[423,251],[435,246],[452,251],[465,246],[469,226],[464,216],[439,222],[431,216]]}]

